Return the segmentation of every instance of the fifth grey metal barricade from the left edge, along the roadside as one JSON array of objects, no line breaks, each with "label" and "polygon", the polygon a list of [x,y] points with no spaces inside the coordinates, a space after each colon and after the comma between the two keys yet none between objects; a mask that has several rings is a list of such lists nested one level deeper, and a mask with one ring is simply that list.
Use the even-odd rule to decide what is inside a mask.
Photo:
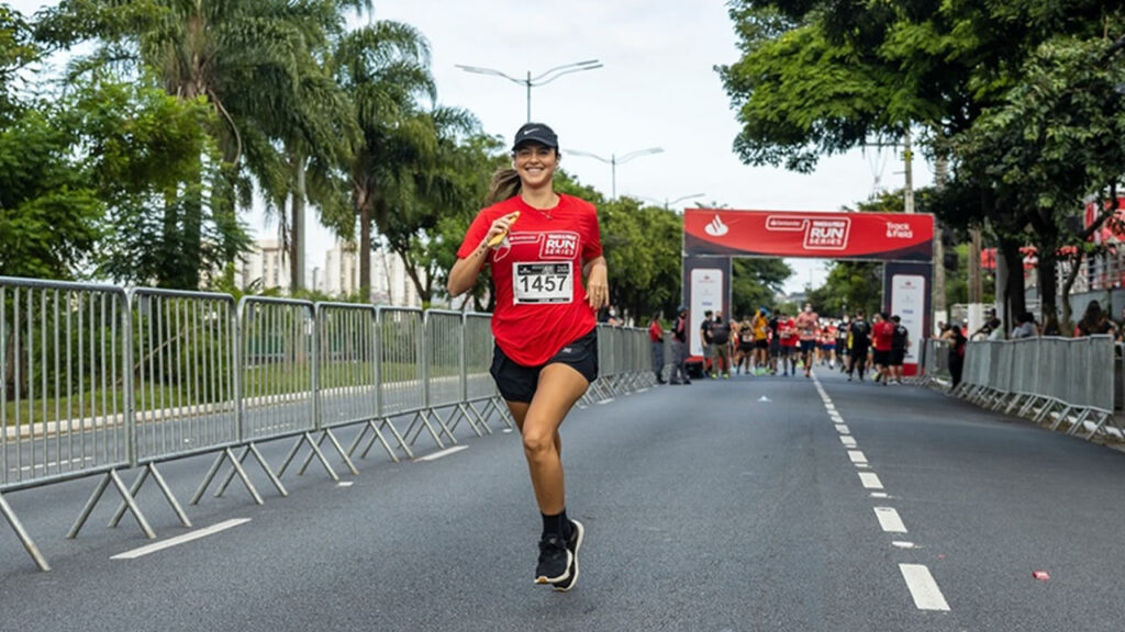
[{"label": "fifth grey metal barricade from the left edge, along the roadside", "polygon": [[[403,432],[406,445],[414,445],[422,431],[429,431],[438,448],[444,448],[441,436],[430,423],[426,412],[425,320],[421,309],[403,307],[378,308],[379,397],[384,417],[408,417]],[[457,439],[442,427],[451,443]],[[406,448],[408,458],[414,458]]]}]

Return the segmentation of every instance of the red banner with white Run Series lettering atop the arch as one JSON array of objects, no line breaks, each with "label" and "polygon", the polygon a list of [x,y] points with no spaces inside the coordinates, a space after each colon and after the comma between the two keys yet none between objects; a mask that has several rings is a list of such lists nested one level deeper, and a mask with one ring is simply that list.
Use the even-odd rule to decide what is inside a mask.
[{"label": "red banner with white Run Series lettering atop the arch", "polygon": [[684,251],[698,256],[930,261],[934,218],[901,213],[688,208]]}]

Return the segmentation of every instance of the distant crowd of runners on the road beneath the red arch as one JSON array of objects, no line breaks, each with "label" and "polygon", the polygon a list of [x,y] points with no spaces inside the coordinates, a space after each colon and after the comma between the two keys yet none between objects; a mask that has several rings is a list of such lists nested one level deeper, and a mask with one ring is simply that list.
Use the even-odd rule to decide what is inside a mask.
[{"label": "distant crowd of runners on the road beneath the red arch", "polygon": [[842,319],[821,318],[811,304],[795,314],[784,309],[757,309],[753,317],[727,322],[721,313],[708,312],[700,327],[705,350],[704,372],[712,378],[735,373],[794,376],[803,370],[812,377],[814,364],[863,381],[868,367],[876,382],[902,382],[902,363],[910,344],[901,319],[876,313],[867,322],[863,310]]}]

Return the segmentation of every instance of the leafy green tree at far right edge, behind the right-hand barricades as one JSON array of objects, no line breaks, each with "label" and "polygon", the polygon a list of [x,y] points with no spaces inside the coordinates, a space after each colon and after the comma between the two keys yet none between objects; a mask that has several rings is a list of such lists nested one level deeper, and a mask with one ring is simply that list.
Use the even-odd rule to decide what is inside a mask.
[{"label": "leafy green tree at far right edge, behind the right-hand barricades", "polygon": [[1069,283],[1065,326],[1058,322],[1060,253],[1079,246],[1071,249],[1077,270],[1090,234],[1074,231],[1069,219],[1087,196],[1109,197],[1125,173],[1125,103],[1116,92],[1125,66],[1112,63],[1110,46],[1102,39],[1044,43],[1005,102],[954,139],[964,164],[989,179],[994,198],[1019,214],[1024,240],[1037,246],[1043,318],[1051,331],[1069,331]]}]

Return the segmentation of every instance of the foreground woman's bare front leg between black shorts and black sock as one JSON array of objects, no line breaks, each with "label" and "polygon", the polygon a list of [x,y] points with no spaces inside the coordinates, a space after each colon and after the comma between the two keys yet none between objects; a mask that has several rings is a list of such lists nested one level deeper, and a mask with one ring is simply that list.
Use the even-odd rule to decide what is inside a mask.
[{"label": "foreground woman's bare front leg between black shorts and black sock", "polygon": [[[539,373],[539,387],[528,406],[520,431],[523,453],[531,472],[539,511],[557,515],[566,508],[566,484],[562,475],[562,440],[559,425],[570,408],[586,392],[590,383],[578,371],[566,364],[548,364]],[[514,414],[514,413],[513,413]]]}]

